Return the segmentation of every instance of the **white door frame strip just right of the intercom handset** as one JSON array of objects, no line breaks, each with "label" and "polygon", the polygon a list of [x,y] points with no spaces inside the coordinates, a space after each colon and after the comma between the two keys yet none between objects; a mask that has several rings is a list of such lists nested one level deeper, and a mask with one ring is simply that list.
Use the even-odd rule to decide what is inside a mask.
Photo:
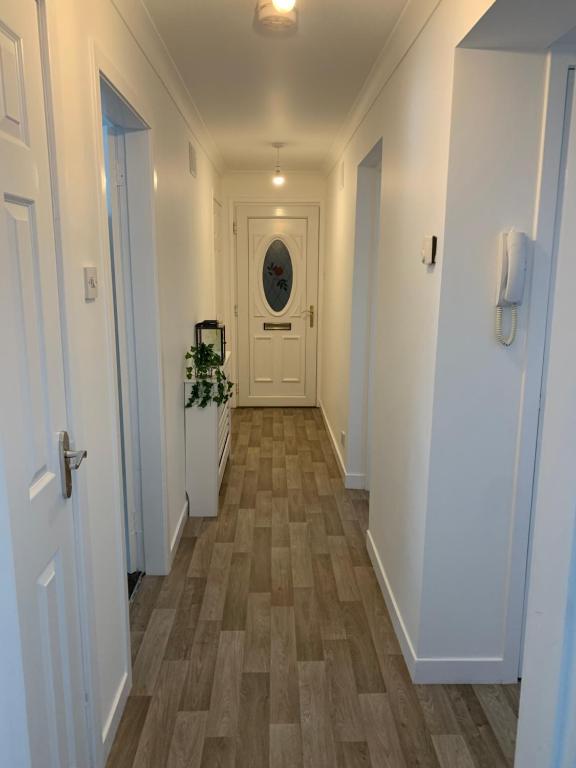
[{"label": "white door frame strip just right of the intercom handset", "polygon": [[[573,57],[548,54],[541,131],[538,182],[531,238],[534,256],[527,297],[526,366],[518,409],[518,436],[513,469],[513,509],[505,634],[501,661],[503,679],[522,677],[527,595],[530,589],[534,489],[537,471],[542,380],[546,355],[547,316],[554,268],[555,217],[561,162],[566,77]],[[559,117],[559,115],[562,117]]]}]

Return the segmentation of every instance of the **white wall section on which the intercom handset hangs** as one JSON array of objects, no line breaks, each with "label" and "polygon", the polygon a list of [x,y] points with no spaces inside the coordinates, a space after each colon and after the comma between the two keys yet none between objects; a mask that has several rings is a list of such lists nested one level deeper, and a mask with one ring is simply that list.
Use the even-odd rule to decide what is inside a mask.
[{"label": "white wall section on which the intercom handset hangs", "polygon": [[[417,645],[430,666],[461,659],[472,675],[471,665],[492,659],[493,675],[509,679],[518,672],[506,645],[510,633],[520,646],[524,571],[519,584],[515,576],[526,563],[534,461],[527,472],[519,464],[530,439],[522,428],[539,393],[523,402],[530,291],[510,348],[494,339],[494,296],[498,233],[514,226],[532,236],[545,77],[543,54],[457,52]],[[538,365],[530,374],[539,385]]]}]

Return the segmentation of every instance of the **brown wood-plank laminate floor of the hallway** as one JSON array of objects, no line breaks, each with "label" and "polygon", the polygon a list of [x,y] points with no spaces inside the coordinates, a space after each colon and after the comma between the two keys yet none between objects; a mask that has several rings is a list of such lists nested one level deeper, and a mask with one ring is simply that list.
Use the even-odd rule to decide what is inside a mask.
[{"label": "brown wood-plank laminate floor of the hallway", "polygon": [[108,768],[505,768],[518,686],[413,685],[317,409],[238,409],[218,519],[131,610]]}]

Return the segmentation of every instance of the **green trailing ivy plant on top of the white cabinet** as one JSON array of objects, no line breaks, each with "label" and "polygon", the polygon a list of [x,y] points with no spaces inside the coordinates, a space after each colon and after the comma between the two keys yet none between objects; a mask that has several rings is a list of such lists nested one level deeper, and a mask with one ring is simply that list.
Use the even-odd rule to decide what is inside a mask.
[{"label": "green trailing ivy plant on top of the white cabinet", "polygon": [[234,384],[222,370],[222,360],[213,344],[190,347],[185,355],[186,378],[192,381],[186,408],[206,408],[210,403],[224,405],[232,397]]}]

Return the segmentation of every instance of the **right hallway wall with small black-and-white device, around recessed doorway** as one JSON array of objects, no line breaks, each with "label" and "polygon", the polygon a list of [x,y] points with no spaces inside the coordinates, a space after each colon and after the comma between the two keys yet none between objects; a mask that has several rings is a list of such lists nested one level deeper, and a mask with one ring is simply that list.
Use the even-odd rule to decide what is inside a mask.
[{"label": "right hallway wall with small black-and-white device, around recessed doorway", "polygon": [[[329,179],[321,401],[339,435],[348,422],[356,169],[383,139],[370,532],[412,642],[419,628],[454,52],[490,4],[443,0],[428,21],[423,15],[421,31],[411,29],[401,51],[391,41],[379,95],[350,132]],[[428,13],[429,4],[414,3],[397,40],[419,5]],[[427,234],[439,236],[434,271],[420,262]]]}]

